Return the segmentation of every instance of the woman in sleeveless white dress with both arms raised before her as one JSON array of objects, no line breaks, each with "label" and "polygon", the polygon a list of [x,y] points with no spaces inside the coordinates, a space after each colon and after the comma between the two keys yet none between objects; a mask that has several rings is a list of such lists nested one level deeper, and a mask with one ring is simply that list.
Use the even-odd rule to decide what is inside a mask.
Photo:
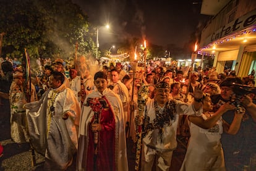
[{"label": "woman in sleeveless white dress with both arms raised before her", "polygon": [[236,109],[236,106],[226,103],[216,113],[210,113],[213,104],[209,94],[203,95],[202,103],[201,115],[188,116],[191,137],[181,170],[226,170],[220,141],[221,133],[224,130],[236,134],[244,113],[236,111],[234,120],[229,125],[221,119],[221,116],[228,110]]}]

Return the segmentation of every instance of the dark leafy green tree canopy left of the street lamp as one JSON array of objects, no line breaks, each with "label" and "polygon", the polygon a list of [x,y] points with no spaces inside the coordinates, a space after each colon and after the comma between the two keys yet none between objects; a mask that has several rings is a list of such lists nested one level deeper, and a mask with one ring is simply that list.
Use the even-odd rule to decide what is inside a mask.
[{"label": "dark leafy green tree canopy left of the street lamp", "polygon": [[[88,17],[79,6],[67,0],[1,1],[0,33],[4,35],[2,57],[74,57],[95,51],[88,34]],[[93,51],[93,53],[95,53]]]}]

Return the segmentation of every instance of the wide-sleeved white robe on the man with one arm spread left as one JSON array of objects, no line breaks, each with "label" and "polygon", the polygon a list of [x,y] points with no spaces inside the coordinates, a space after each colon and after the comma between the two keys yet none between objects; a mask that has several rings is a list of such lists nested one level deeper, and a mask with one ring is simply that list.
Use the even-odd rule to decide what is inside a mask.
[{"label": "wide-sleeved white robe on the man with one arm spread left", "polygon": [[[49,111],[52,101],[54,113]],[[66,170],[77,150],[80,106],[74,93],[62,84],[58,89],[49,89],[40,101],[27,103],[25,108],[30,142],[38,153],[45,155],[45,170]],[[68,119],[62,119],[67,112]]]}]

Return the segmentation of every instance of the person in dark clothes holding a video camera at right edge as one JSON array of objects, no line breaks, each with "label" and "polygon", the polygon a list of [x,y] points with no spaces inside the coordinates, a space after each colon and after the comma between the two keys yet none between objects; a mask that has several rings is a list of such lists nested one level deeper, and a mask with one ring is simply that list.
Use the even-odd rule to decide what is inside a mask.
[{"label": "person in dark clothes holding a video camera at right edge", "polygon": [[[250,157],[256,154],[256,105],[247,95],[237,95],[235,84],[242,84],[239,78],[226,78],[220,83],[221,93],[211,95],[214,104],[213,111],[217,111],[221,105],[234,103],[236,109],[226,111],[223,114],[223,122],[231,124],[235,113],[245,114],[242,118],[241,127],[236,135],[223,132],[221,143],[223,145],[224,159],[227,170],[242,170],[244,165],[249,165]],[[240,92],[246,92],[240,90]]]}]

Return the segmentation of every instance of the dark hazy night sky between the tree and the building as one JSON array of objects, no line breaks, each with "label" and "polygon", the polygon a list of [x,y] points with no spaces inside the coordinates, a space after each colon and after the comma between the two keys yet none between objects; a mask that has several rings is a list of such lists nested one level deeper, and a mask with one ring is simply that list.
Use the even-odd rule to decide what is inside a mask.
[{"label": "dark hazy night sky between the tree and the building", "polygon": [[79,4],[93,25],[111,25],[111,30],[100,29],[100,44],[138,37],[164,47],[184,47],[196,28],[209,18],[200,14],[200,0],[72,1]]}]

